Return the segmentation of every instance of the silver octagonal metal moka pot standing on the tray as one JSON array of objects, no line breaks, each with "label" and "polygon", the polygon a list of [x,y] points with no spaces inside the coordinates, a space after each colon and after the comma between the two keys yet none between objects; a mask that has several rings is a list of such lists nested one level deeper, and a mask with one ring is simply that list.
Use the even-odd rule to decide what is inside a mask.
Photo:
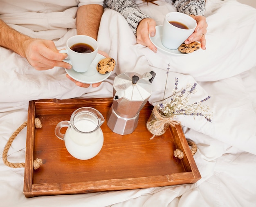
[{"label": "silver octagonal metal moka pot standing on the tray", "polygon": [[113,103],[107,115],[107,125],[117,134],[131,134],[138,125],[139,111],[151,96],[155,73],[122,73],[115,77]]}]

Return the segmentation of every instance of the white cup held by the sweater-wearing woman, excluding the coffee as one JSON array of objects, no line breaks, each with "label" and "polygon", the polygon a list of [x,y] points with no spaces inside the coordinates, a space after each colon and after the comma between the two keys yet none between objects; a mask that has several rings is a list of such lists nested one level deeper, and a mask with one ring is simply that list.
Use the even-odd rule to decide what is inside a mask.
[{"label": "white cup held by the sweater-wearing woman, excluding the coffee", "polygon": [[[180,22],[189,29],[173,26],[170,21]],[[196,26],[196,21],[189,15],[180,12],[167,13],[162,27],[162,44],[168,49],[176,50],[195,31]]]}]

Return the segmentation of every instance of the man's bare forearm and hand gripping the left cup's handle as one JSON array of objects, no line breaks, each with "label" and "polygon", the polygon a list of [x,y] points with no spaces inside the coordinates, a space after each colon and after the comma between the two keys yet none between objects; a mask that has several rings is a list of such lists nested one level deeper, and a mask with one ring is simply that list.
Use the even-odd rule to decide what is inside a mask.
[{"label": "man's bare forearm and hand gripping the left cup's handle", "polygon": [[2,20],[0,20],[0,37],[0,46],[26,57],[36,70],[47,70],[54,66],[71,68],[70,64],[62,62],[66,54],[58,53],[53,41],[31,38],[12,29]]}]

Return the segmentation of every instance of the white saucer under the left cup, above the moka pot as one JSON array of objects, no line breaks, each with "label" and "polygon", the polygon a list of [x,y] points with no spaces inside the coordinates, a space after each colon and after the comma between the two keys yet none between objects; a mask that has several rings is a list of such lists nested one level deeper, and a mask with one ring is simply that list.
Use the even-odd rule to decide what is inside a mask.
[{"label": "white saucer under the left cup, above the moka pot", "polygon": [[70,77],[72,77],[74,80],[79,81],[81,83],[84,83],[84,84],[99,83],[99,82],[107,79],[111,75],[111,72],[112,72],[111,71],[110,73],[100,74],[97,71],[96,67],[97,67],[98,62],[104,58],[106,58],[106,57],[103,55],[100,55],[98,53],[97,56],[95,57],[95,59],[93,60],[92,64],[90,65],[90,69],[84,73],[76,72],[75,70],[73,70],[73,68],[71,68],[69,70],[65,68],[65,70]]}]

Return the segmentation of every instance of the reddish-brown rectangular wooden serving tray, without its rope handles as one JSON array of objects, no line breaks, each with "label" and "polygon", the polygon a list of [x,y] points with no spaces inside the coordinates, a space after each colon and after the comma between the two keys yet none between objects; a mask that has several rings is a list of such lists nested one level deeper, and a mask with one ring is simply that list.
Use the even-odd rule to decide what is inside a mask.
[{"label": "reddish-brown rectangular wooden serving tray, without its rope handles", "polygon": [[[112,132],[106,120],[101,126],[104,144],[99,154],[85,161],[72,157],[64,141],[54,134],[56,124],[70,120],[72,112],[84,106],[96,108],[106,119],[111,104],[111,98],[29,101],[24,177],[27,198],[178,185],[201,178],[181,126],[150,140],[146,122],[153,107],[148,103],[132,134]],[[42,128],[35,128],[36,117]],[[184,152],[183,159],[175,158],[177,148]],[[36,158],[42,159],[43,165],[34,170]]]}]

